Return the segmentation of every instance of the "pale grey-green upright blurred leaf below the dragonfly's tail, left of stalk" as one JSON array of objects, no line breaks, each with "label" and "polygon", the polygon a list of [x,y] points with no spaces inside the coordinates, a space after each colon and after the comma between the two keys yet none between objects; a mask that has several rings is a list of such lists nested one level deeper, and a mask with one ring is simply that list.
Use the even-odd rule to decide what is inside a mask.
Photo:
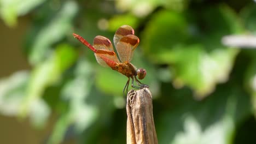
[{"label": "pale grey-green upright blurred leaf below the dragonfly's tail, left of stalk", "polygon": [[69,99],[70,113],[78,131],[83,131],[95,120],[97,111],[94,106],[84,103],[94,83],[92,65],[83,60],[79,61],[74,71],[75,77],[68,82],[62,91],[63,99]]}]

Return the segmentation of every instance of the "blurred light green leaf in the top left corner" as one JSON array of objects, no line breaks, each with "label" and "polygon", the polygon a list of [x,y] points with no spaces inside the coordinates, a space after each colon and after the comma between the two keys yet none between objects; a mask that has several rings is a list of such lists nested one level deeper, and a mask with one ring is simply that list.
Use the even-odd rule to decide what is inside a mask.
[{"label": "blurred light green leaf in the top left corner", "polygon": [[15,26],[18,16],[25,15],[45,0],[2,0],[0,1],[0,14],[8,26]]}]

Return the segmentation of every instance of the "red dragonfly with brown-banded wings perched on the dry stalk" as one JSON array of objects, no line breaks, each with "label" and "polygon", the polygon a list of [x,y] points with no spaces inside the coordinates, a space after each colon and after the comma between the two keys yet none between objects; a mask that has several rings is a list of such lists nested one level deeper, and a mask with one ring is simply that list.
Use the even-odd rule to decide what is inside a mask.
[{"label": "red dragonfly with brown-banded wings perched on the dry stalk", "polygon": [[[130,78],[132,79],[131,86],[133,88],[148,87],[148,85],[145,85],[138,80],[144,79],[147,74],[146,70],[142,68],[136,69],[136,67],[130,63],[133,51],[139,44],[139,38],[134,35],[132,27],[127,25],[121,26],[114,35],[115,49],[117,49],[121,62],[119,61],[117,54],[115,54],[112,43],[108,38],[98,35],[94,38],[94,44],[92,46],[80,35],[75,33],[73,33],[73,35],[95,53],[98,64],[105,67],[108,66],[128,77],[123,93],[125,92],[125,88],[126,93],[128,92]],[[136,76],[138,76],[138,79]],[[133,85],[134,80],[139,87]]]}]

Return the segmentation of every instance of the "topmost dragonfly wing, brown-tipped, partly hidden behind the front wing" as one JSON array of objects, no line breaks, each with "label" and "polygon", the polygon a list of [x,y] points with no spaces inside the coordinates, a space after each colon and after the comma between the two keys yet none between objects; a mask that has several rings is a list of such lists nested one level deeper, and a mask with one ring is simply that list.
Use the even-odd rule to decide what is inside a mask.
[{"label": "topmost dragonfly wing, brown-tipped, partly hidden behind the front wing", "polygon": [[118,41],[126,35],[132,34],[134,35],[134,30],[132,27],[124,25],[118,28],[114,35],[114,45],[117,47]]}]

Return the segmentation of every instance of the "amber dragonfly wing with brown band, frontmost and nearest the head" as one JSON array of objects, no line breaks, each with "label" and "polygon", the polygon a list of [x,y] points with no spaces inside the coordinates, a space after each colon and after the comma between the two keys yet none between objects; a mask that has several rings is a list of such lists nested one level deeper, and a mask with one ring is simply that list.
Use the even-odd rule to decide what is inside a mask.
[{"label": "amber dragonfly wing with brown band, frontmost and nearest the head", "polygon": [[130,34],[126,35],[125,37],[121,38],[117,46],[117,49],[120,61],[123,63],[130,62],[133,56],[133,51],[139,44],[139,38],[136,35]]}]

